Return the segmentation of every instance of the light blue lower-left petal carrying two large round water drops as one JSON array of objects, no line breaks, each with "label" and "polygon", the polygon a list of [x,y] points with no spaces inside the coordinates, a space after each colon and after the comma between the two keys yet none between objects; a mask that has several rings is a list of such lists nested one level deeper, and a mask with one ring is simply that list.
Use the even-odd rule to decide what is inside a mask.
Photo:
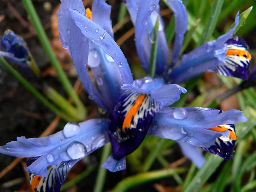
[{"label": "light blue lower-left petal carrying two large round water drops", "polygon": [[46,177],[47,167],[85,157],[108,142],[108,119],[91,119],[79,124],[67,123],[63,131],[48,137],[17,137],[17,141],[0,147],[0,153],[15,157],[39,157],[26,170]]}]

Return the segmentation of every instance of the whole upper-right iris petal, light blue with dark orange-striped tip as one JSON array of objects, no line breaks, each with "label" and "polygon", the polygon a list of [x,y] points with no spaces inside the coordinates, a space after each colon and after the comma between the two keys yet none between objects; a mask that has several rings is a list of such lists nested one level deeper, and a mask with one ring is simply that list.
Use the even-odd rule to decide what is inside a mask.
[{"label": "whole upper-right iris petal, light blue with dark orange-striped tip", "polygon": [[[170,70],[170,81],[180,83],[209,70],[223,75],[246,78],[250,64],[250,54],[241,40],[232,40],[232,34],[236,30],[238,22],[239,12],[236,15],[236,24],[233,29],[221,35],[217,40],[209,41],[192,52],[183,55],[177,67]],[[231,42],[233,44],[230,44]],[[239,52],[238,56],[236,52]],[[246,57],[242,54],[244,52],[247,53]]]}]

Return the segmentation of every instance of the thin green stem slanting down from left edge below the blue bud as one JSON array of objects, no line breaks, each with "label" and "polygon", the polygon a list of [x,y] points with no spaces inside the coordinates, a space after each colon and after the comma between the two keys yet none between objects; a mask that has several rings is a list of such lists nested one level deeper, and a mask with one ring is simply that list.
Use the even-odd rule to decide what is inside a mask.
[{"label": "thin green stem slanting down from left edge below the blue bud", "polygon": [[18,80],[24,87],[27,88],[36,98],[38,98],[45,106],[47,106],[50,110],[54,111],[58,116],[61,116],[64,120],[72,121],[73,119],[67,116],[65,113],[60,111],[55,105],[52,105],[41,93],[39,93],[26,79],[20,75],[9,63],[6,62],[5,59],[0,58],[0,62],[9,70],[10,73]]}]

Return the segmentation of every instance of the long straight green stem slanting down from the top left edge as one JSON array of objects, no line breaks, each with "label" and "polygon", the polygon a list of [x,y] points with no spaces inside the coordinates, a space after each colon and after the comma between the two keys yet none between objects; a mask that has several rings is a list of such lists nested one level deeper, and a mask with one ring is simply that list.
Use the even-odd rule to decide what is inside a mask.
[{"label": "long straight green stem slanting down from the top left edge", "polygon": [[76,95],[76,93],[73,90],[73,87],[67,78],[66,74],[64,73],[64,70],[61,68],[61,65],[58,61],[58,59],[55,57],[54,52],[52,50],[52,46],[49,42],[49,39],[47,38],[47,35],[44,31],[44,28],[42,26],[42,23],[35,11],[35,7],[33,6],[33,3],[31,0],[22,0],[23,5],[30,16],[30,19],[32,21],[33,26],[35,27],[36,32],[38,33],[38,39],[41,42],[45,52],[47,53],[49,60],[51,61],[52,66],[55,68],[56,73],[58,74],[58,79],[61,81],[61,84],[63,85],[64,89],[67,91],[70,98],[73,100],[73,102],[76,104],[78,110],[80,113],[84,114],[84,119],[86,117],[86,109],[84,108],[83,103],[79,99],[79,96]]}]

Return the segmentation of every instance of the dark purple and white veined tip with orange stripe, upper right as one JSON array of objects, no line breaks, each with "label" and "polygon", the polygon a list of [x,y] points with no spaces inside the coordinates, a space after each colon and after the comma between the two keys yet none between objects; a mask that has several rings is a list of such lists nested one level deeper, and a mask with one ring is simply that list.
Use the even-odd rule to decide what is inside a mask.
[{"label": "dark purple and white veined tip with orange stripe, upper right", "polygon": [[216,66],[208,71],[247,80],[251,61],[248,45],[236,35],[231,36],[226,44],[227,53],[224,61],[226,64]]}]

